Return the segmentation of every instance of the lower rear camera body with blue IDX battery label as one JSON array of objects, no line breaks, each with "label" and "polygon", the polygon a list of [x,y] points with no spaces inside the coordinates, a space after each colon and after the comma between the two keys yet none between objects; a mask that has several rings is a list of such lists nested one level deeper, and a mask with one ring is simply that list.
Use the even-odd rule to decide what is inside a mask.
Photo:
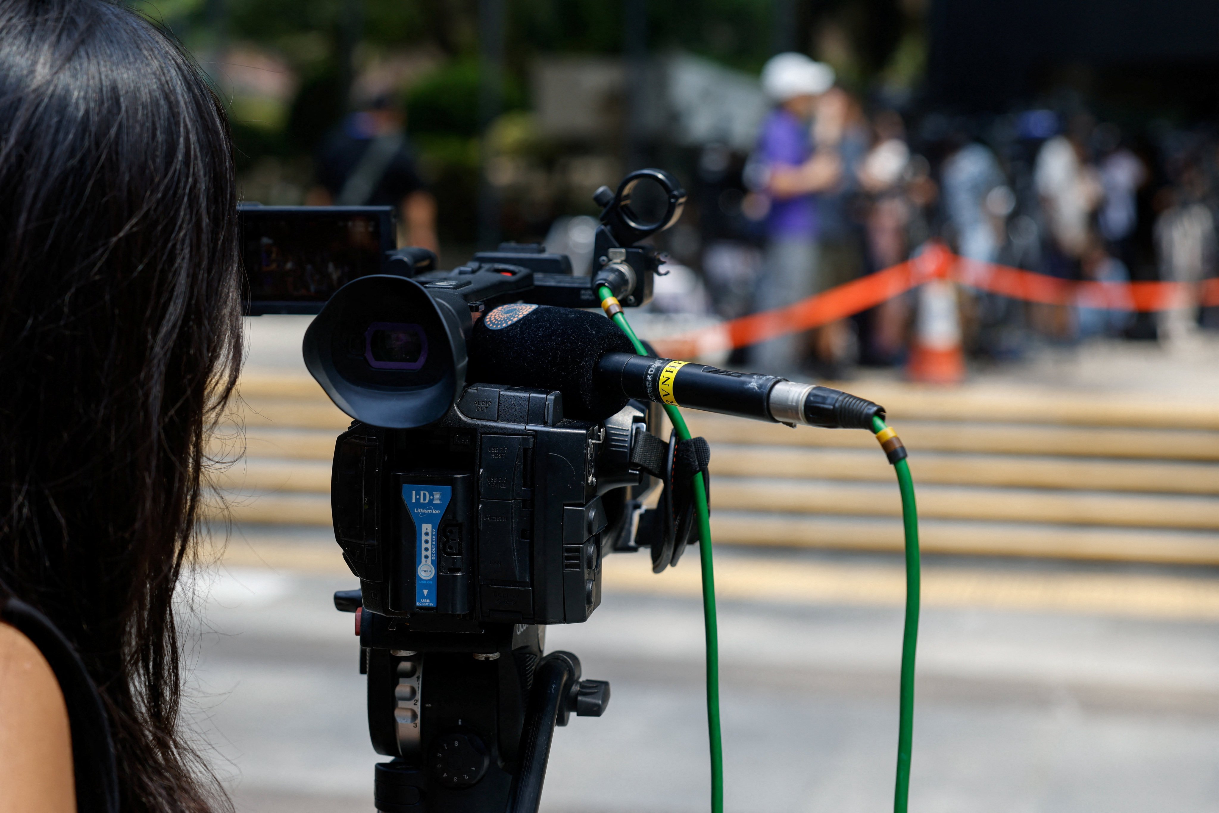
[{"label": "lower rear camera body with blue IDX battery label", "polygon": [[364,611],[436,633],[586,620],[655,485],[630,462],[649,414],[570,419],[558,392],[475,384],[427,427],[354,423],[330,499]]}]

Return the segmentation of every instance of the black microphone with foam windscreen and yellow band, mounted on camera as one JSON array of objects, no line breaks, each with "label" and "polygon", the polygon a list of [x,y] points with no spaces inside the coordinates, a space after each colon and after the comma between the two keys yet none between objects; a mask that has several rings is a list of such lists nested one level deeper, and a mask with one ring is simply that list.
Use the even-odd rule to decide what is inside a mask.
[{"label": "black microphone with foam windscreen and yellow band, mounted on camera", "polygon": [[479,319],[468,380],[558,390],[566,414],[591,421],[630,399],[792,425],[870,430],[885,417],[880,405],[828,386],[640,356],[610,319],[546,305],[503,305]]}]

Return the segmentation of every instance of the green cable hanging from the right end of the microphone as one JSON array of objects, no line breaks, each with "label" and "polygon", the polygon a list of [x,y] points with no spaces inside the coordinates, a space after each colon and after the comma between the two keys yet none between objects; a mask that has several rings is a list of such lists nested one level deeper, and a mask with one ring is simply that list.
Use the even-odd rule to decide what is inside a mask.
[{"label": "green cable hanging from the right end of the microphone", "polygon": [[[880,418],[872,429],[886,429]],[[914,507],[914,480],[909,463],[894,463],[897,488],[902,492],[902,527],[906,531],[906,622],[902,629],[902,678],[897,706],[897,783],[894,789],[894,813],[906,813],[911,795],[911,740],[914,730],[914,648],[918,645],[920,568],[918,553],[918,509]]]}]

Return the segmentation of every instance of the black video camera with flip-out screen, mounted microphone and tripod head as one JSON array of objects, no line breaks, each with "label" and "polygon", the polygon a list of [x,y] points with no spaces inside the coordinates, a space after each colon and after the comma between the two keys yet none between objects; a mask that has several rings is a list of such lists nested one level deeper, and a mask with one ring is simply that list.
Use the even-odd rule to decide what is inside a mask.
[{"label": "black video camera with flip-out screen, mounted microphone and tripod head", "polygon": [[[657,573],[695,539],[701,439],[653,431],[661,403],[814,425],[869,425],[845,392],[634,352],[597,307],[652,294],[645,238],[681,215],[670,174],[642,169],[602,207],[592,277],[505,244],[451,271],[396,250],[389,207],[243,207],[249,311],[316,313],[310,373],[354,418],[332,474],[335,538],[360,590],[368,720],[385,813],[536,811],[555,725],[600,715],[607,683],[546,624],[586,620],[601,563],[651,551]],[[661,494],[646,507],[655,490]]]}]

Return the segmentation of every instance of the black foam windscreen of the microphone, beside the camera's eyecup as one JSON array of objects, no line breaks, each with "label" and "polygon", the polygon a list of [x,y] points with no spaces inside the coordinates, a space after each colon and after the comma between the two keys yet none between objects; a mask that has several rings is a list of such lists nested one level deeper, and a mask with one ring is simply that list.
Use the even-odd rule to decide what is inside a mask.
[{"label": "black foam windscreen of the microphone, beside the camera's eyecup", "polygon": [[633,352],[622,330],[599,313],[547,305],[501,305],[474,324],[467,380],[563,394],[563,413],[603,421],[627,396],[599,385],[597,360]]}]

